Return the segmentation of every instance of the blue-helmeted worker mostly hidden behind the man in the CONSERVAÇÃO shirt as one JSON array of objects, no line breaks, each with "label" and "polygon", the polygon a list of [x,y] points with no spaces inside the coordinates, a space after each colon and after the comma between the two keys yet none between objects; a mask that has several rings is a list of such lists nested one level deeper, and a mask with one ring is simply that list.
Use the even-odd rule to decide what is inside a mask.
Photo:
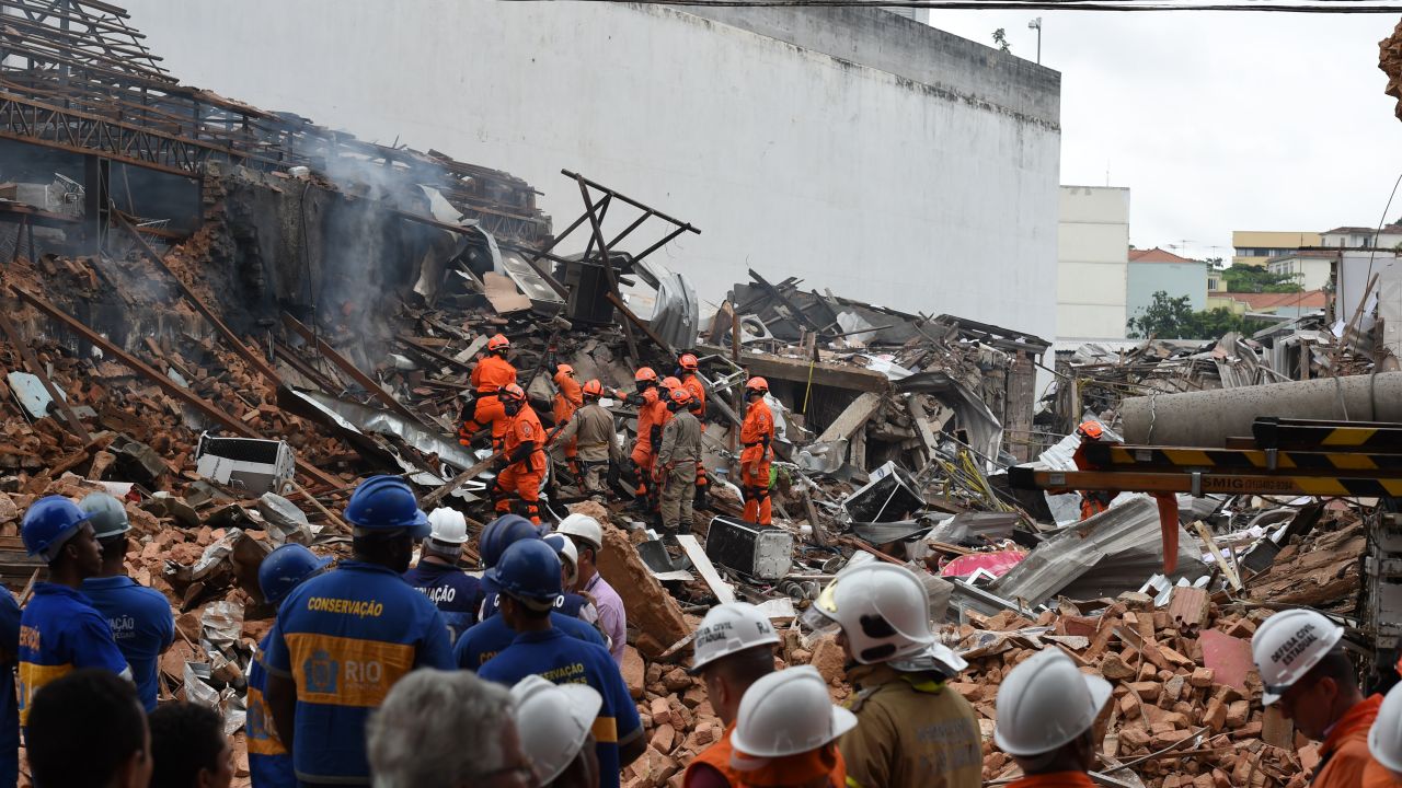
[{"label": "blue-helmeted worker mostly hidden behind the man in the CONSERVA\u00c7\u00c3O shirt", "polygon": [[[314,552],[300,544],[285,544],[273,550],[258,565],[258,586],[262,587],[264,599],[268,604],[279,607],[287,599],[292,589],[300,586],[303,580],[320,575],[331,558],[317,558]],[[254,788],[297,788],[297,775],[292,768],[292,753],[278,736],[264,691],[268,687],[268,669],[264,667],[264,656],[268,653],[268,644],[272,632],[264,635],[258,644],[258,656],[248,665],[248,698],[245,701],[248,716],[244,724],[244,736],[248,739],[248,775]]]}]

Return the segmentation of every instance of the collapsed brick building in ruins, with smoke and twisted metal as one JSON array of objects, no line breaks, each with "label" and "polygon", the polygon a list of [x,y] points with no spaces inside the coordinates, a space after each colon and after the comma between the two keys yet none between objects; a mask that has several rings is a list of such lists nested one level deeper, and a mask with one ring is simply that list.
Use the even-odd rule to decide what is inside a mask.
[{"label": "collapsed brick building in ruins, with smoke and twisted metal", "polygon": [[[1204,348],[1082,348],[1056,359],[1043,393],[1050,344],[1035,334],[823,282],[751,269],[702,315],[684,264],[656,255],[701,229],[646,195],[562,171],[558,188],[582,203],[564,223],[506,172],[179,86],[114,7],[10,7],[0,575],[21,596],[42,576],[17,538],[38,496],[123,498],[129,572],[179,614],[164,698],[217,705],[240,729],[245,669],[272,616],[258,564],[287,541],[345,555],[338,510],[359,478],[402,474],[425,508],[482,526],[491,451],[460,444],[456,429],[467,374],[501,332],[537,405],[554,394],[551,359],[621,388],[641,365],[701,358],[716,492],[697,537],[659,540],[646,512],[624,505],[627,484],[601,505],[557,467],[544,491],[554,517],[608,524],[600,571],[624,595],[624,676],[649,738],[628,785],[677,784],[722,733],[683,669],[716,602],[761,604],[784,630],[784,662],[813,663],[845,698],[840,646],[796,618],[865,561],[925,579],[942,638],[972,663],[952,686],[980,714],[990,781],[1015,774],[991,743],[997,684],[1044,648],[1116,684],[1101,784],[1298,787],[1318,761],[1255,702],[1249,638],[1281,604],[1378,635],[1359,595],[1371,506],[1182,495],[1165,562],[1148,498],[1122,494],[1082,522],[1075,495],[1019,489],[1009,468],[1074,467],[1071,433],[1087,416],[1143,443],[1179,440],[1165,437],[1169,421],[1242,433],[1175,405],[1185,391],[1346,387],[1356,416],[1396,421],[1366,409],[1371,376],[1340,377],[1381,363],[1360,344],[1367,331],[1304,321]],[[625,229],[604,233],[606,213]],[[585,251],[562,252],[569,240]],[[773,527],[740,517],[733,484],[747,374],[773,384]],[[635,411],[610,407],[629,439]],[[471,544],[464,562],[477,564]]]}]

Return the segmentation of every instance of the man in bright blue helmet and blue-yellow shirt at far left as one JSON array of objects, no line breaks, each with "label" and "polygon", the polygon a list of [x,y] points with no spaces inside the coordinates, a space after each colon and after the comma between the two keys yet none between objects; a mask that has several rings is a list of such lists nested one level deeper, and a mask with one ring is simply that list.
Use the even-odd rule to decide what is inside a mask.
[{"label": "man in bright blue helmet and blue-yellow shirt at far left", "polygon": [[102,571],[102,548],[90,516],[62,495],[41,498],[24,513],[20,537],[29,557],[49,565],[20,616],[20,725],[45,684],[81,667],[101,667],[132,680],[112,639],[112,627],[79,589]]}]

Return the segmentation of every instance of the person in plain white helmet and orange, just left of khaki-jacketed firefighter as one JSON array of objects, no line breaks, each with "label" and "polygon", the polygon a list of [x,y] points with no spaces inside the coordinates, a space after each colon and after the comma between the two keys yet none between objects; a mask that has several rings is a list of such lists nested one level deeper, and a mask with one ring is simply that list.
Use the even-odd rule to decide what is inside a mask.
[{"label": "person in plain white helmet and orange, just left of khaki-jacketed firefighter", "polygon": [[730,732],[730,766],[746,788],[845,788],[838,736],[857,716],[833,705],[812,665],[770,673],[750,686]]}]

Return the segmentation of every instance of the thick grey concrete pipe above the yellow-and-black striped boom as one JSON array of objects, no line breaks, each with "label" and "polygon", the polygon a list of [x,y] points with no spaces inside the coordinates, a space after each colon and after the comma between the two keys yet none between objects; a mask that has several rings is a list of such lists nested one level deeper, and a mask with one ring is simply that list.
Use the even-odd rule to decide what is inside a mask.
[{"label": "thick grey concrete pipe above the yellow-and-black striped boom", "polygon": [[1402,422],[1402,372],[1124,400],[1124,442],[1221,447],[1258,416]]}]

